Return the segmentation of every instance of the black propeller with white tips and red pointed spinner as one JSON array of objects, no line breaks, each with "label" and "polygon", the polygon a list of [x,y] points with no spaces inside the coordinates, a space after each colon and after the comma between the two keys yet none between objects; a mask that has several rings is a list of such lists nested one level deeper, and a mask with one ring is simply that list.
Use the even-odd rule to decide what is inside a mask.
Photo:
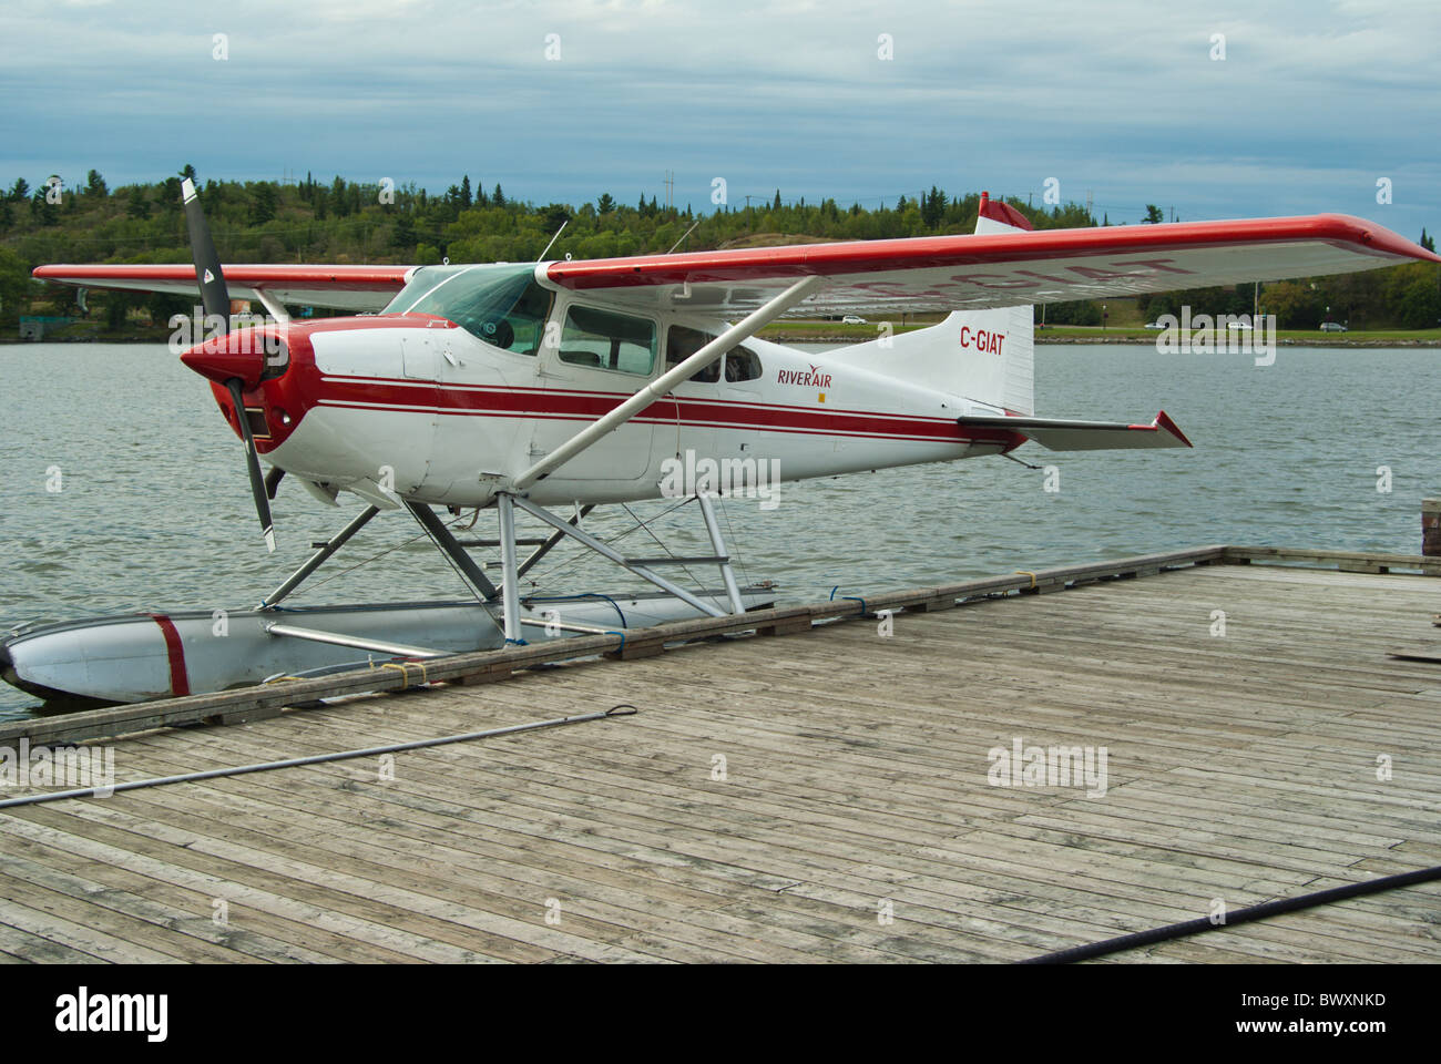
[{"label": "black propeller with white tips and red pointed spinner", "polygon": [[[195,260],[195,280],[200,285],[200,304],[205,307],[208,320],[219,316],[226,324],[226,332],[229,332],[231,293],[225,287],[225,272],[220,270],[220,257],[215,251],[215,241],[210,239],[210,226],[206,225],[205,212],[200,209],[200,196],[189,177],[182,182],[180,195],[184,200],[186,228],[190,231],[190,258]],[[261,535],[265,538],[265,548],[274,552],[275,526],[271,520],[269,500],[275,497],[280,476],[274,476],[277,470],[271,470],[274,476],[274,480],[271,480],[261,473],[259,451],[255,450],[255,435],[251,431],[249,417],[245,412],[245,389],[259,385],[261,373],[264,373],[265,368],[264,352],[254,352],[254,359],[246,359],[246,355],[251,355],[251,352],[235,356],[236,359],[246,360],[236,360],[235,369],[241,372],[231,375],[229,358],[222,363],[216,363],[218,352],[206,349],[203,356],[196,355],[200,349],[205,349],[205,345],[186,352],[180,356],[180,360],[190,366],[190,369],[218,381],[231,394],[235,420],[239,422],[241,438],[245,443],[245,466],[251,477],[251,495],[255,496],[255,513],[261,519]],[[252,366],[251,362],[255,360],[258,360],[258,365]],[[219,369],[219,373],[216,369]],[[254,378],[251,375],[252,369],[255,371]],[[284,474],[282,470],[280,473],[281,476]]]}]

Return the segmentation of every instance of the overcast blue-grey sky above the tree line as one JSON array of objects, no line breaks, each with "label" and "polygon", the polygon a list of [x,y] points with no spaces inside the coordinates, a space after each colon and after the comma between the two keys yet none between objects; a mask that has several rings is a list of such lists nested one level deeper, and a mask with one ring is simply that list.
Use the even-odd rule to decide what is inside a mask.
[{"label": "overcast blue-grey sky above the tree line", "polygon": [[716,177],[843,206],[1053,177],[1111,222],[1339,210],[1415,239],[1441,229],[1438,42],[1435,0],[4,0],[0,182],[189,161],[578,205],[664,200],[673,170],[709,209]]}]

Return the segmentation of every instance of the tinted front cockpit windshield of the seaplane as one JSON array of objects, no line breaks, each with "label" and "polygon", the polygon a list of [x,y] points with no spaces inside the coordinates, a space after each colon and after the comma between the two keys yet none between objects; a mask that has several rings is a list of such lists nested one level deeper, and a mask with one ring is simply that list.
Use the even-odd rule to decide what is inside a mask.
[{"label": "tinted front cockpit windshield of the seaplane", "polygon": [[517,355],[540,349],[550,293],[535,265],[421,267],[382,314],[437,314],[486,343]]}]

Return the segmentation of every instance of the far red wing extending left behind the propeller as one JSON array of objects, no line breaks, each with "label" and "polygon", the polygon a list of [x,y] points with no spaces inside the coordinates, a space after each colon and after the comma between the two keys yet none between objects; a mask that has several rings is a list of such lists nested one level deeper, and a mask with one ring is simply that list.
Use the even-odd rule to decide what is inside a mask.
[{"label": "far red wing extending left behind the propeller", "polygon": [[[258,300],[261,290],[278,303],[330,310],[380,310],[405,287],[412,265],[226,265],[225,284],[233,298]],[[43,281],[81,288],[128,288],[196,296],[195,265],[102,264],[36,267]]]}]

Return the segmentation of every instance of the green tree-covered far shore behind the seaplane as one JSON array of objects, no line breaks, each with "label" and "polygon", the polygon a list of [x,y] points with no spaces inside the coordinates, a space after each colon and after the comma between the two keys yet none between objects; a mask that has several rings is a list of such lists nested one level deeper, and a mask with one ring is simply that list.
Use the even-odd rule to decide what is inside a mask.
[{"label": "green tree-covered far shore behind the seaplane", "polygon": [[[65,186],[48,177],[32,186],[17,177],[0,189],[0,327],[13,334],[22,313],[73,311],[75,294],[30,280],[46,262],[187,262],[190,261],[180,182],[200,189],[206,218],[222,261],[229,262],[526,262],[539,258],[552,236],[565,229],[550,257],[611,258],[672,248],[712,249],[794,241],[855,241],[970,232],[980,198],[950,196],[932,185],[918,196],[898,196],[866,208],[834,199],[807,203],[774,199],[720,203],[708,212],[692,205],[667,206],[653,195],[633,205],[608,192],[594,200],[537,205],[486,187],[470,174],[441,195],[414,182],[352,182],[305,174],[291,182],[200,180],[193,166],[153,183],[111,189],[89,170],[84,182]],[[754,198],[752,198],[754,199]],[[1085,228],[1097,219],[1078,203],[1032,206],[1006,202],[1038,229]],[[708,200],[705,206],[712,208]],[[1154,205],[1137,212],[1138,222],[1163,221]],[[1110,218],[1102,216],[1101,225]],[[1422,242],[1434,241],[1422,232]],[[1249,313],[1251,285],[1143,297],[1150,317],[1179,309],[1193,313]],[[1428,327],[1441,319],[1441,275],[1428,264],[1391,267],[1344,277],[1282,281],[1261,288],[1261,307],[1281,327],[1313,327],[1326,317],[1352,327]],[[186,301],[140,293],[91,293],[86,306],[111,327],[137,309],[164,320]],[[1329,310],[1327,310],[1329,309]],[[1091,301],[1055,304],[1046,320],[1099,323]]]}]

